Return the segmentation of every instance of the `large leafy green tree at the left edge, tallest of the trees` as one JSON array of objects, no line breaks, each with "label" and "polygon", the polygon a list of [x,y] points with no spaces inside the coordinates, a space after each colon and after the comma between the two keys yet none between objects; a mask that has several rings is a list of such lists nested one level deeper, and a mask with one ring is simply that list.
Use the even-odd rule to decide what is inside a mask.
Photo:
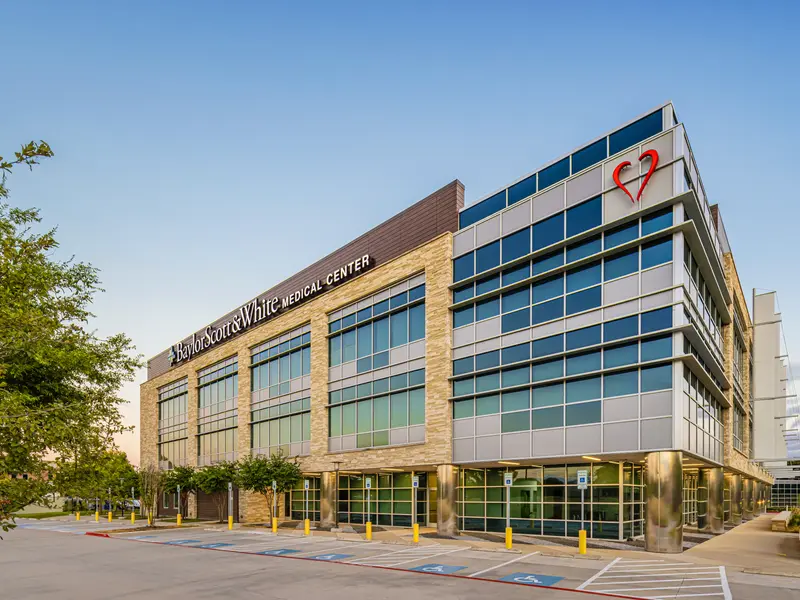
[{"label": "large leafy green tree at the left edge, tallest of the trees", "polygon": [[[40,231],[37,209],[5,204],[8,175],[53,156],[45,142],[0,157],[0,528],[12,513],[42,502],[56,470],[76,473],[113,447],[124,431],[119,390],[141,359],[122,334],[101,338],[88,329],[94,296],[101,292],[90,264],[56,257],[55,230]],[[28,474],[21,483],[17,474]],[[82,475],[82,476],[83,476]],[[76,481],[76,483],[79,483]],[[86,481],[78,487],[84,487]]]}]

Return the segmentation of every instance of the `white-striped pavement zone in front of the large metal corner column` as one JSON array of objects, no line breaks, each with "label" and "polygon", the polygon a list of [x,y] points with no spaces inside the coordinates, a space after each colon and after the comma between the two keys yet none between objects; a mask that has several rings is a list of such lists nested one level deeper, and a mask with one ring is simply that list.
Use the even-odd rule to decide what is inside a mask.
[{"label": "white-striped pavement zone in front of the large metal corner column", "polygon": [[676,559],[617,558],[578,586],[578,589],[637,598],[707,596],[731,600],[725,567]]}]

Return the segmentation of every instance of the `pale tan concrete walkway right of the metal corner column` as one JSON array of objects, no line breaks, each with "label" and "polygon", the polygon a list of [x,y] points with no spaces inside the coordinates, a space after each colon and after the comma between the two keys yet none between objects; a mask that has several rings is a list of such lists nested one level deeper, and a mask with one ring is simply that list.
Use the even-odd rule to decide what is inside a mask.
[{"label": "pale tan concrete walkway right of the metal corner column", "polygon": [[797,533],[770,530],[772,515],[761,515],[683,553],[684,560],[722,564],[746,573],[800,577]]}]

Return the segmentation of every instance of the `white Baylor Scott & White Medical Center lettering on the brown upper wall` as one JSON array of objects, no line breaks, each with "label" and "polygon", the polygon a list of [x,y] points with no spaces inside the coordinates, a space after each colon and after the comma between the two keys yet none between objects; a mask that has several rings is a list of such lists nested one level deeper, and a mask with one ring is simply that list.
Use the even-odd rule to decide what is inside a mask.
[{"label": "white Baylor Scott & White Medical Center lettering on the brown upper wall", "polygon": [[296,305],[305,302],[344,283],[351,277],[365,271],[372,264],[369,254],[357,258],[354,261],[331,271],[322,279],[309,283],[288,296],[283,298],[275,296],[273,298],[255,298],[249,303],[240,307],[239,310],[225,323],[214,327],[209,325],[200,333],[192,334],[192,339],[186,343],[178,342],[169,349],[169,364],[175,365],[184,360],[191,360],[197,354],[213,348],[217,344],[240,334],[254,325],[269,321],[283,312],[294,308]]}]

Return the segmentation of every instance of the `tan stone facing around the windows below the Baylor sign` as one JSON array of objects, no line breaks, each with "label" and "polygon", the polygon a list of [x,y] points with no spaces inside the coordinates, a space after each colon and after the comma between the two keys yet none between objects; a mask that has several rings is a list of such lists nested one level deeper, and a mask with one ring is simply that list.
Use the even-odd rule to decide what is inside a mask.
[{"label": "tan stone facing around the windows below the Baylor sign", "polygon": [[[419,467],[435,470],[452,460],[451,411],[448,402],[451,371],[450,291],[452,235],[442,234],[363,275],[336,287],[296,309],[182,363],[141,386],[141,461],[158,460],[158,388],[188,377],[188,463],[197,464],[197,371],[233,355],[239,358],[239,456],[250,452],[250,348],[306,323],[311,324],[311,454],[300,457],[305,472],[377,467]],[[373,294],[417,273],[425,273],[425,437],[423,443],[380,449],[328,452],[328,313]],[[263,497],[242,494],[240,516],[246,521],[266,518]]]}]

